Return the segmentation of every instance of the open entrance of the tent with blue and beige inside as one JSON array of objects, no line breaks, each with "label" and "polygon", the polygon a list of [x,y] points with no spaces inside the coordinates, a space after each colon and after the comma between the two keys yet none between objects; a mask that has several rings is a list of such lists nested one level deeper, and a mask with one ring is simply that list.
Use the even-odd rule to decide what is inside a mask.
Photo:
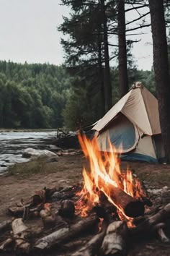
[{"label": "open entrance of the tent with blue and beige inside", "polygon": [[125,153],[133,150],[137,144],[139,135],[133,123],[123,114],[118,114],[117,119],[109,123],[107,129],[99,132],[97,138],[99,148],[102,151],[110,151],[109,140],[117,153]]}]

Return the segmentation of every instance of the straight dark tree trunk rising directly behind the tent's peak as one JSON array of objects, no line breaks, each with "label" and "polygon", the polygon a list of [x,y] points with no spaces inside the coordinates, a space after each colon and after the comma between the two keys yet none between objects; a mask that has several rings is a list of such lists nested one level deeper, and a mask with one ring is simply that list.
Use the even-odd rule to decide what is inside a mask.
[{"label": "straight dark tree trunk rising directly behind the tent's peak", "polygon": [[118,38],[119,38],[119,79],[120,98],[128,93],[127,49],[125,36],[125,0],[118,1]]}]

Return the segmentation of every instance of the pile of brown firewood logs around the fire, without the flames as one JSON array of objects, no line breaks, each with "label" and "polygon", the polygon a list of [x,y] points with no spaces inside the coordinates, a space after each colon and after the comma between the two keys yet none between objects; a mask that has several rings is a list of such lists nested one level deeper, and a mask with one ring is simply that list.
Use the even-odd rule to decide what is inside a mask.
[{"label": "pile of brown firewood logs around the fire, without the flames", "polygon": [[163,194],[169,195],[169,190],[157,189],[152,193],[154,189],[148,189],[153,205],[148,197],[134,200],[123,191],[114,191],[116,200],[121,202],[122,198],[122,208],[130,216],[121,218],[117,207],[102,192],[99,192],[100,202],[88,210],[86,216],[81,216],[81,189],[82,184],[44,188],[35,191],[27,202],[21,200],[9,208],[12,218],[0,223],[0,253],[128,255],[130,240],[136,236],[156,234],[161,242],[169,242],[164,228],[170,218],[170,203],[167,203],[168,197],[164,205],[160,200]]}]

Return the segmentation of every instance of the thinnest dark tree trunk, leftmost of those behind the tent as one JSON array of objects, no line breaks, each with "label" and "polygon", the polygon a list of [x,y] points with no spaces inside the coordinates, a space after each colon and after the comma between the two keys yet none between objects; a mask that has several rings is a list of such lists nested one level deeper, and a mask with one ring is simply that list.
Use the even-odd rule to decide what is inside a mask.
[{"label": "thinnest dark tree trunk, leftmost of those behind the tent", "polygon": [[101,27],[98,30],[98,59],[99,59],[99,81],[100,81],[100,116],[105,114],[105,95],[104,95],[104,72],[102,67],[102,40],[101,40]]}]

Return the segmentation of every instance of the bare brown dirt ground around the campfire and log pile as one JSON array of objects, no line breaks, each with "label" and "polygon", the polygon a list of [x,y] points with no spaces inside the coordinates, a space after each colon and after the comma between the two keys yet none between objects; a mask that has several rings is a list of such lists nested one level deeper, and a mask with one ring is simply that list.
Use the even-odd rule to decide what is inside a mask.
[{"label": "bare brown dirt ground around the campfire and log pile", "polygon": [[[21,199],[28,199],[36,189],[43,187],[65,187],[81,182],[81,169],[84,163],[84,155],[64,155],[58,158],[58,162],[48,163],[48,172],[32,173],[30,176],[0,177],[0,223],[9,219],[7,209],[15,206]],[[25,163],[27,164],[27,163]],[[23,165],[23,164],[22,164]],[[151,187],[170,187],[170,166],[148,163],[122,162],[122,168],[129,166],[140,179],[146,181]],[[42,166],[43,168],[43,166]],[[169,198],[170,201],[170,198]],[[170,236],[169,236],[170,237]],[[3,254],[1,254],[3,255]],[[140,239],[130,245],[129,256],[169,256],[170,244],[163,244],[157,237]],[[3,255],[4,256],[4,255]]]}]

